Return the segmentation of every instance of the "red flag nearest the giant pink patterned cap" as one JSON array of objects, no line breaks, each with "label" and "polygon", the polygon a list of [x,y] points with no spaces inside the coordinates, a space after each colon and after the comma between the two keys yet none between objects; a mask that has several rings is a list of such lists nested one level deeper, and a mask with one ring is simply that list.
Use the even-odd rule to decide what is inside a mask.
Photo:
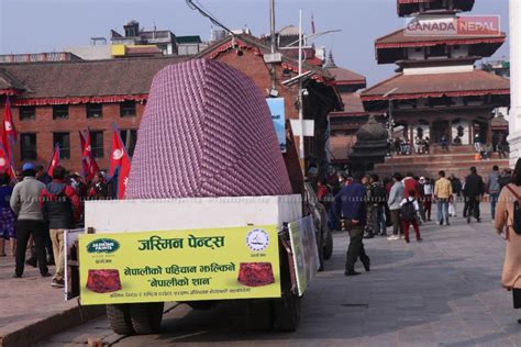
[{"label": "red flag nearest the giant pink patterned cap", "polygon": [[[117,178],[118,199],[125,195],[126,183],[131,170],[131,159],[126,154],[125,145],[120,137],[118,126],[114,124],[112,131],[112,148],[110,152],[109,176]],[[115,175],[117,174],[117,175]]]}]

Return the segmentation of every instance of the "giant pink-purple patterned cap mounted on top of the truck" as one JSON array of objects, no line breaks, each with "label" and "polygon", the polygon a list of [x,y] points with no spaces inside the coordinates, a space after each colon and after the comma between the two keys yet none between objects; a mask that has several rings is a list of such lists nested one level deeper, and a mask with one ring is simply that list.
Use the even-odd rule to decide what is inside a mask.
[{"label": "giant pink-purple patterned cap mounted on top of the truck", "polygon": [[289,193],[269,109],[252,79],[204,59],[154,77],[126,199]]}]

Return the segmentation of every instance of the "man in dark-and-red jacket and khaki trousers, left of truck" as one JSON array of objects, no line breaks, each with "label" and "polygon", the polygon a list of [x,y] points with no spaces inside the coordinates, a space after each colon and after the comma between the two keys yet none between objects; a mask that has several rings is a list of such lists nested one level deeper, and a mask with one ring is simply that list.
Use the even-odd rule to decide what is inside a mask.
[{"label": "man in dark-and-red jacket and khaki trousers, left of truck", "polygon": [[53,170],[53,181],[42,191],[42,212],[48,222],[51,239],[56,261],[56,273],[51,286],[64,287],[64,230],[76,226],[80,215],[80,201],[75,189],[65,183],[66,170],[57,166]]}]

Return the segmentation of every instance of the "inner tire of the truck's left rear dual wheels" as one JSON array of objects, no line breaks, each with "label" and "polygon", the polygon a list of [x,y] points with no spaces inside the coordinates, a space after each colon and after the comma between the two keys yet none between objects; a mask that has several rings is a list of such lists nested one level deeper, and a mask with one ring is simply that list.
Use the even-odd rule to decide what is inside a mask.
[{"label": "inner tire of the truck's left rear dual wheels", "polygon": [[148,335],[159,332],[164,305],[164,302],[129,304],[134,332],[137,335]]}]

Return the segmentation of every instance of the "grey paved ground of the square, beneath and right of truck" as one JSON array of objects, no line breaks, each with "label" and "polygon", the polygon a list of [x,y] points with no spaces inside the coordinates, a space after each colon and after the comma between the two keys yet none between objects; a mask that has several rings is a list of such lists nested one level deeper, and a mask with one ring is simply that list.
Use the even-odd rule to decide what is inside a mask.
[{"label": "grey paved ground of the square, beneath and right of truck", "polygon": [[306,293],[292,334],[242,329],[234,304],[210,311],[181,304],[165,314],[159,335],[118,337],[101,318],[41,345],[106,336],[117,346],[521,346],[521,312],[500,284],[505,240],[492,230],[488,203],[481,206],[480,224],[458,217],[448,227],[423,225],[421,244],[366,240],[372,272],[354,278],[343,275],[348,238],[336,234],[333,258]]}]

